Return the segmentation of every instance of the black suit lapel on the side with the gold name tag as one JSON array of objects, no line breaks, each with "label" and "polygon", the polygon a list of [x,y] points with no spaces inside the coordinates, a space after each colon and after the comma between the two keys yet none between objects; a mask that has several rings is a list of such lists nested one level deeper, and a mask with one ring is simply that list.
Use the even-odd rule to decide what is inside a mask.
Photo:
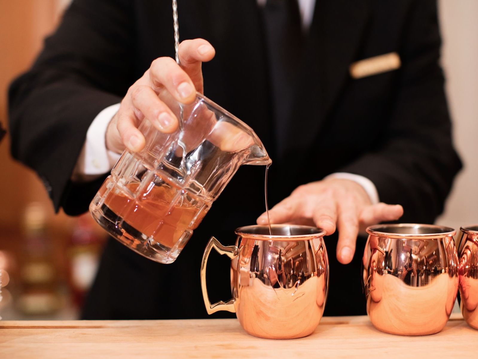
[{"label": "black suit lapel on the side with the gold name tag", "polygon": [[[290,126],[281,131],[279,152],[286,156],[312,146],[337,95],[348,79],[369,19],[369,1],[317,0],[309,29]],[[282,157],[282,156],[281,156]]]}]

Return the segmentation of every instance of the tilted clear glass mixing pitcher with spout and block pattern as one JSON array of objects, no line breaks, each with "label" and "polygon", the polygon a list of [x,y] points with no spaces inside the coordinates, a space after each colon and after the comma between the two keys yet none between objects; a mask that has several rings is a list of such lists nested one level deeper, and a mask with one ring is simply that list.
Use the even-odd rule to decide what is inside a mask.
[{"label": "tilted clear glass mixing pitcher with spout and block pattern", "polygon": [[144,149],[124,151],[89,210],[125,246],[172,263],[239,166],[271,160],[247,124],[203,95],[187,105],[166,90],[159,97],[178,129],[163,134],[143,120]]}]

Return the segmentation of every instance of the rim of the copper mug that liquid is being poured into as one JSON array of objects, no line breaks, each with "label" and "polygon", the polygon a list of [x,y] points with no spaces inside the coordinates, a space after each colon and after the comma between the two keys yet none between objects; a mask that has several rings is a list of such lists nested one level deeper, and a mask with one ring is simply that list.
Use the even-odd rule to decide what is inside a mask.
[{"label": "rim of the copper mug that liquid is being poured into", "polygon": [[276,241],[293,241],[297,239],[317,238],[325,236],[326,234],[326,231],[321,228],[300,224],[271,224],[271,229],[272,235],[269,234],[268,225],[246,225],[236,228],[234,233],[236,233],[238,236],[254,238],[257,240]]}]

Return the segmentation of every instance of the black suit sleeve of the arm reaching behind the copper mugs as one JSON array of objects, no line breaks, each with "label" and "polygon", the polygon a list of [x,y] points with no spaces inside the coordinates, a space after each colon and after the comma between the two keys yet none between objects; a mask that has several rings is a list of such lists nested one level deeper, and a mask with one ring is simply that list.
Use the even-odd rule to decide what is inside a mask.
[{"label": "black suit sleeve of the arm reaching behind the copper mugs", "polygon": [[440,45],[435,1],[414,1],[390,122],[373,152],[340,169],[370,179],[380,201],[402,204],[405,222],[433,223],[461,168],[452,144]]}]

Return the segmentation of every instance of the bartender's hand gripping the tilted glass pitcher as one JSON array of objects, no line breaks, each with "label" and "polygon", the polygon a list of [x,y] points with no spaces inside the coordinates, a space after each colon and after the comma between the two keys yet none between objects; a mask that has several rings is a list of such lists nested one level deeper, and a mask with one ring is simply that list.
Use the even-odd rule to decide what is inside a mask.
[{"label": "bartender's hand gripping the tilted glass pitcher", "polygon": [[138,125],[146,118],[159,131],[169,134],[178,127],[173,111],[158,98],[166,89],[176,101],[191,103],[196,91],[203,92],[201,65],[212,60],[214,47],[206,40],[185,40],[179,45],[181,67],[171,57],[155,59],[151,67],[128,90],[121,101],[120,110],[111,119],[106,131],[106,147],[121,153],[125,147],[132,152],[141,151],[144,136]]}]

